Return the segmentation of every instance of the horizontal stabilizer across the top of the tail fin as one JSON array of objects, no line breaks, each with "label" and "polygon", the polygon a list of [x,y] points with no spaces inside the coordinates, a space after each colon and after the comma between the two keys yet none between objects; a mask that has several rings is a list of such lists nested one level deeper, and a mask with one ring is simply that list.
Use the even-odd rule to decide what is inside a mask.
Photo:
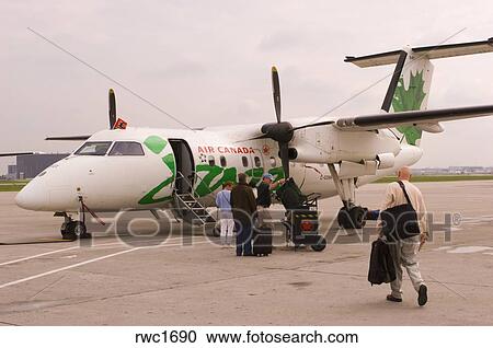
[{"label": "horizontal stabilizer across the top of the tail fin", "polygon": [[[482,42],[423,46],[411,49],[412,53],[417,56],[425,56],[427,59],[485,54],[493,51],[493,37]],[[362,57],[346,56],[344,61],[352,62],[359,68],[386,66],[397,63],[400,54],[401,50],[399,49]]]}]

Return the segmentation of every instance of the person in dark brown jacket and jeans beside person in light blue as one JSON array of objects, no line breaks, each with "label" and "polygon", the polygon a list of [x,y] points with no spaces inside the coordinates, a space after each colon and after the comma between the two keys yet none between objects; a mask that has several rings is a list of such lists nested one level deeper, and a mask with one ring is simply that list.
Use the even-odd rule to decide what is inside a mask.
[{"label": "person in dark brown jacket and jeans beside person in light blue", "polygon": [[252,256],[252,216],[256,201],[244,173],[238,174],[238,185],[231,190],[231,207],[237,227],[237,256]]}]

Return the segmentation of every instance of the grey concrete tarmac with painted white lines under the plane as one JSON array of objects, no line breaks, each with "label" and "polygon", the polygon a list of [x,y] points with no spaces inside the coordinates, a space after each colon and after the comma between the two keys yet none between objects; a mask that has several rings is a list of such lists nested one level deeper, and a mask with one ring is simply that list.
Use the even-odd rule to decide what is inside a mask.
[{"label": "grey concrete tarmac with painted white lines under the plane", "polygon": [[[493,182],[417,186],[436,223],[451,219],[451,233],[438,228],[419,256],[424,308],[406,276],[402,303],[386,301],[388,285],[369,285],[370,244],[358,231],[321,253],[279,235],[271,256],[236,257],[190,227],[169,233],[161,222],[154,235],[139,212],[137,235],[91,224],[92,240],[61,242],[60,218],[0,193],[0,325],[493,325]],[[358,201],[378,208],[385,188],[364,186]],[[322,230],[340,205],[320,201]]]}]

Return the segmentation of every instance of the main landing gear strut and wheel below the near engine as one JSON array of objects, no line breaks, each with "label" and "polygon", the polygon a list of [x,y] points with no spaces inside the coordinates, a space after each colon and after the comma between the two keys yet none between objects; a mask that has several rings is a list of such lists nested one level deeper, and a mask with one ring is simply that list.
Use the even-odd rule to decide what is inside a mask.
[{"label": "main landing gear strut and wheel below the near engine", "polygon": [[337,213],[337,223],[343,229],[363,229],[366,224],[367,208],[355,205],[356,177],[341,178],[333,163],[328,164],[335,188],[343,202]]}]

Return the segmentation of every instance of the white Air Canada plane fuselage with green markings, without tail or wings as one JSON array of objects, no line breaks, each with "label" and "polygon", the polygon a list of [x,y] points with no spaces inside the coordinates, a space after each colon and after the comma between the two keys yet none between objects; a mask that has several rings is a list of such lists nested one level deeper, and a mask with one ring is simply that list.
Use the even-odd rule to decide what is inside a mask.
[{"label": "white Air Canada plane fuselage with green markings, without tail or wings", "polygon": [[[239,173],[246,173],[253,184],[265,172],[276,179],[284,176],[275,141],[242,140],[260,126],[102,130],[88,142],[111,142],[105,154],[72,153],[32,179],[18,194],[16,202],[30,210],[60,212],[78,211],[81,198],[93,211],[168,208],[173,189],[184,185],[180,183],[185,181],[183,173],[193,181],[202,202],[213,206],[221,184],[234,182]],[[110,155],[116,142],[137,142],[144,152]],[[332,125],[299,130],[290,146],[299,154],[290,163],[290,176],[303,194],[318,193],[322,198],[337,195],[326,163],[348,163],[344,171],[341,164],[341,175],[358,177],[360,186],[422,156],[420,148],[401,143],[390,130],[341,131]],[[368,172],[363,164],[374,163],[379,154],[392,158],[390,165]]]}]

